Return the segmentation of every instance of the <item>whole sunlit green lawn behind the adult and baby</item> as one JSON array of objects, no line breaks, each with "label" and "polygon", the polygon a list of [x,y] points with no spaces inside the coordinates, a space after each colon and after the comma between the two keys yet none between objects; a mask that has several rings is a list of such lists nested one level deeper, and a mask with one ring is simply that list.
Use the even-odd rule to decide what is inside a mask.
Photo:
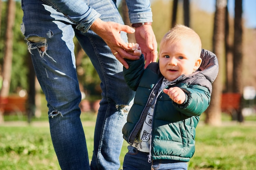
[{"label": "whole sunlit green lawn behind the adult and baby", "polygon": [[[91,117],[86,121],[86,117]],[[89,158],[92,157],[95,115],[82,115]],[[199,124],[189,170],[256,170],[256,121]],[[124,143],[120,161],[123,162]],[[9,122],[0,126],[1,170],[60,170],[46,121]]]}]

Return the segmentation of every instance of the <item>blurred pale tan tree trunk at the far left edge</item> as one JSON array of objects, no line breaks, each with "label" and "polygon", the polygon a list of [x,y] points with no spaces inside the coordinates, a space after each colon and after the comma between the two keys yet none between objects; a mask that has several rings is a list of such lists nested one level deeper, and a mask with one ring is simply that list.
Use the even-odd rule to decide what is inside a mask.
[{"label": "blurred pale tan tree trunk at the far left edge", "polygon": [[[5,52],[3,62],[3,85],[0,91],[0,97],[5,98],[9,95],[11,82],[11,65],[12,65],[12,47],[13,47],[13,26],[15,21],[15,0],[8,0],[7,10],[7,29],[5,38]],[[3,110],[0,110],[0,123],[4,121]]]}]

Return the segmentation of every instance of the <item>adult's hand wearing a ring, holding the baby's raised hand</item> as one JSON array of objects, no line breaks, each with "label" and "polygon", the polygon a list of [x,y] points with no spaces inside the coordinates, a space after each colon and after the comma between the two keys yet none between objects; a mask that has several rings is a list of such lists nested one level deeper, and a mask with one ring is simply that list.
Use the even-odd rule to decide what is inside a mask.
[{"label": "adult's hand wearing a ring, holding the baby's raised hand", "polygon": [[99,18],[93,22],[90,29],[97,33],[106,42],[117,60],[119,60],[126,69],[128,69],[129,66],[124,58],[130,60],[139,59],[139,56],[131,55],[129,53],[132,52],[132,49],[128,47],[128,44],[124,42],[120,35],[121,31],[134,33],[135,29],[116,22],[104,22]]}]

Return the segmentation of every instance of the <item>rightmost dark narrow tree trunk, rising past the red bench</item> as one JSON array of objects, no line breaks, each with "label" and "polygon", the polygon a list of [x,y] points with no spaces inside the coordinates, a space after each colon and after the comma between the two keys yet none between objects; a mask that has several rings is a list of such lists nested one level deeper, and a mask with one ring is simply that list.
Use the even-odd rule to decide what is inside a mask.
[{"label": "rightmost dark narrow tree trunk, rising past the red bench", "polygon": [[[242,26],[242,0],[235,0],[235,21],[234,21],[234,51],[233,51],[233,92],[239,93],[242,96],[242,66],[243,66],[243,26]],[[241,104],[240,104],[241,105]],[[238,110],[238,121],[243,121],[241,108]]]}]

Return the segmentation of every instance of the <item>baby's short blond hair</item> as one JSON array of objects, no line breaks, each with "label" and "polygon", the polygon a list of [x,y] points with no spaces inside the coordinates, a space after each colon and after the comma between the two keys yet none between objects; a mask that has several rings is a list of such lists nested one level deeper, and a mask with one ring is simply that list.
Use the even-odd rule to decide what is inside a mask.
[{"label": "baby's short blond hair", "polygon": [[195,52],[200,57],[202,42],[199,35],[193,29],[181,24],[176,24],[164,35],[160,43],[160,50],[163,43],[173,43],[184,39],[191,42],[191,46],[195,47]]}]

